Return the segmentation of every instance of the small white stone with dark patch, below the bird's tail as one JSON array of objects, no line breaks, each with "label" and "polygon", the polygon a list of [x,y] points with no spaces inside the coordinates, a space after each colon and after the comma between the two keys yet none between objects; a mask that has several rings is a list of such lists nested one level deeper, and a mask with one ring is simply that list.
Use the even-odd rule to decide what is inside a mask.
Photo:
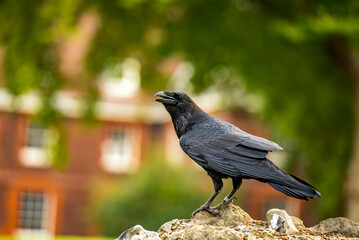
[{"label": "small white stone with dark patch, below the bird's tail", "polygon": [[271,209],[266,214],[267,224],[271,229],[281,233],[296,233],[298,228],[294,225],[288,213],[281,209]]}]

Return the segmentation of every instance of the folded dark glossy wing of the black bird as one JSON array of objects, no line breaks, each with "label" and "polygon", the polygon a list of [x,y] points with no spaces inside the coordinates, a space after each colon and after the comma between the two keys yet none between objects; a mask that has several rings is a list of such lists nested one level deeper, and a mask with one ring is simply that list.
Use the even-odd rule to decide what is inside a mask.
[{"label": "folded dark glossy wing of the black bird", "polygon": [[268,151],[279,146],[245,132],[194,131],[184,135],[180,144],[200,166],[226,176],[267,179],[282,172],[266,159]]}]

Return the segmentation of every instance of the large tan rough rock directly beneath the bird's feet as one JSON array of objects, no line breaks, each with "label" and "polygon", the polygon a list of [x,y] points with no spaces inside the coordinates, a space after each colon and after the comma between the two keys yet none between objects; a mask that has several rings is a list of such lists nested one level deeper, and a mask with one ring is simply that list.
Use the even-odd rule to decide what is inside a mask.
[{"label": "large tan rough rock directly beneath the bird's feet", "polygon": [[295,228],[288,214],[287,218],[290,219],[288,221],[291,221],[297,229],[296,233],[274,231],[265,221],[253,220],[241,208],[232,204],[221,206],[216,210],[220,212],[220,217],[202,211],[192,219],[174,219],[167,222],[157,232],[161,239],[325,239],[306,229],[299,219],[295,222],[301,230]]}]

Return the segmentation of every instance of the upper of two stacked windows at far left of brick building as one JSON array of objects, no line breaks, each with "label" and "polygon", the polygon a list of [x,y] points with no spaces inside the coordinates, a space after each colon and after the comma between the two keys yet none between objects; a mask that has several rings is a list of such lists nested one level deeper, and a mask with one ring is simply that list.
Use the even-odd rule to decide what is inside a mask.
[{"label": "upper of two stacked windows at far left of brick building", "polygon": [[25,127],[24,145],[20,150],[20,160],[28,167],[48,167],[47,150],[49,146],[49,129],[35,122],[28,122]]}]

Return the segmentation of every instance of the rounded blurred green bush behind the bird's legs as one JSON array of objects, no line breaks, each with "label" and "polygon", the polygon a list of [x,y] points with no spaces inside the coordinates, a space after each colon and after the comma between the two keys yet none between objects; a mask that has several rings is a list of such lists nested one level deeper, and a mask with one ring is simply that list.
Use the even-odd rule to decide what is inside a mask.
[{"label": "rounded blurred green bush behind the bird's legs", "polygon": [[198,176],[187,168],[153,159],[117,184],[118,191],[111,186],[110,194],[102,198],[98,196],[101,191],[96,191],[93,208],[102,233],[114,237],[137,224],[157,231],[174,218],[190,218],[210,195],[196,186],[201,182]]}]

